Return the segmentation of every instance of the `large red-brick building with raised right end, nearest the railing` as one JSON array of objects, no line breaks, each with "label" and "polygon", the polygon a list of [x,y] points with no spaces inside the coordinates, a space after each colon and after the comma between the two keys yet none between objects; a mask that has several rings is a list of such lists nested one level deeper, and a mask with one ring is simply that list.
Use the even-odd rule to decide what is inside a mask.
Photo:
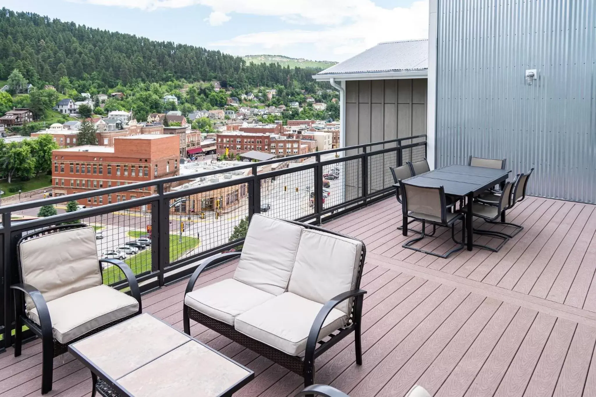
[{"label": "large red-brick building with raised right end, nearest the railing", "polygon": [[[52,152],[52,192],[70,195],[178,175],[179,142],[175,135],[117,137],[114,146],[77,146]],[[166,190],[172,186],[166,186]],[[148,196],[155,187],[80,199],[104,205]]]}]

